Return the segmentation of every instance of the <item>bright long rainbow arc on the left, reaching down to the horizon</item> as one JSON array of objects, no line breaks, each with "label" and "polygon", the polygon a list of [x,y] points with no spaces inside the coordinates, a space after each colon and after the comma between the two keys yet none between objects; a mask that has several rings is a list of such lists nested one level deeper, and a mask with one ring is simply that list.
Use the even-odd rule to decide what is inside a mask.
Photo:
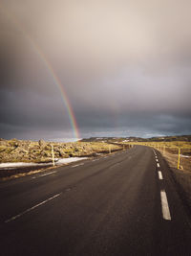
[{"label": "bright long rainbow arc on the left, reaching down to the horizon", "polygon": [[69,101],[69,98],[67,96],[67,93],[63,87],[63,84],[61,83],[61,81],[59,80],[59,78],[57,77],[55,71],[53,70],[53,65],[51,64],[51,62],[48,60],[48,58],[45,57],[43,51],[41,50],[41,48],[39,47],[39,45],[36,44],[36,42],[32,39],[32,36],[29,35],[25,28],[23,27],[23,25],[18,21],[18,19],[15,18],[14,15],[11,14],[11,12],[8,12],[7,10],[5,10],[5,8],[2,8],[2,6],[0,6],[1,9],[7,14],[7,16],[9,17],[9,19],[11,19],[13,22],[13,24],[16,25],[16,28],[22,32],[23,35],[25,35],[27,37],[27,39],[29,40],[30,44],[32,45],[32,48],[34,50],[34,52],[37,54],[37,56],[42,60],[42,62],[44,63],[45,67],[47,68],[47,70],[49,71],[49,73],[51,74],[52,78],[53,78],[53,82],[54,84],[57,86],[58,90],[61,93],[62,96],[62,102],[65,106],[65,108],[67,109],[67,113],[69,116],[69,120],[70,120],[70,124],[71,127],[73,129],[73,134],[74,134],[74,138],[79,140],[80,139],[80,135],[79,135],[79,128],[77,127],[77,122],[76,122],[76,118],[74,116],[74,110],[73,107]]}]

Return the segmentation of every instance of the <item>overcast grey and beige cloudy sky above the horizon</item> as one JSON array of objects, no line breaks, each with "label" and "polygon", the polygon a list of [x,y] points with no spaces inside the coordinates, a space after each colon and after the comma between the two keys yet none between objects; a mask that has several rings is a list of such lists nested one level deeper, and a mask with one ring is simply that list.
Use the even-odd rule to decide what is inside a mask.
[{"label": "overcast grey and beige cloudy sky above the horizon", "polygon": [[191,134],[190,10],[190,0],[0,0],[0,137],[74,138],[66,98],[80,138]]}]

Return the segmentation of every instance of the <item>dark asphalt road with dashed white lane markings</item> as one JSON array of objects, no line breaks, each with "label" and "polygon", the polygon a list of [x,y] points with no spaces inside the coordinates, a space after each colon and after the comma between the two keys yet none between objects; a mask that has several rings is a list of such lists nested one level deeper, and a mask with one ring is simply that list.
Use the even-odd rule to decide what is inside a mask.
[{"label": "dark asphalt road with dashed white lane markings", "polygon": [[191,225],[158,151],[0,183],[0,255],[191,255]]}]

